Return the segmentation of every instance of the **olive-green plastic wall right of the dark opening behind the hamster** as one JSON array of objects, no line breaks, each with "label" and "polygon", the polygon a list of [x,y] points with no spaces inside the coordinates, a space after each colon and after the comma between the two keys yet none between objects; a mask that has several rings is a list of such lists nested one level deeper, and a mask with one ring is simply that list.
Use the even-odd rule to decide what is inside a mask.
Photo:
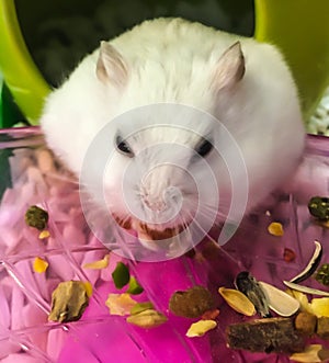
[{"label": "olive-green plastic wall right of the dark opening behind the hamster", "polygon": [[254,36],[283,52],[307,121],[329,86],[329,0],[254,0]]}]

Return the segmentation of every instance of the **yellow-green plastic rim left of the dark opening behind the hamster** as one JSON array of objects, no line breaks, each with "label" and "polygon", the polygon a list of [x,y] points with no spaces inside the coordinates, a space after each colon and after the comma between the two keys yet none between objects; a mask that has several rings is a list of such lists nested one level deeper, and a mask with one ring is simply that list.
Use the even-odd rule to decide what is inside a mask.
[{"label": "yellow-green plastic rim left of the dark opening behind the hamster", "polygon": [[27,121],[36,125],[49,86],[26,48],[13,0],[0,0],[0,69],[5,84]]}]

